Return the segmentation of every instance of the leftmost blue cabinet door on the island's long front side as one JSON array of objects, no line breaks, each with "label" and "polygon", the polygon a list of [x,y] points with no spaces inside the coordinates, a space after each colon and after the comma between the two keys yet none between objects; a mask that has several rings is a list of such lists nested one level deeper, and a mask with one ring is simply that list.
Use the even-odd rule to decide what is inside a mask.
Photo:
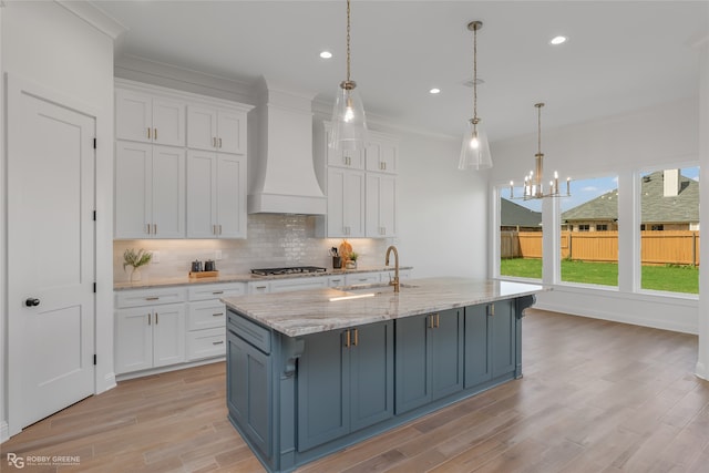
[{"label": "leftmost blue cabinet door on the island's long front side", "polygon": [[332,330],[305,337],[298,360],[298,451],[350,431],[349,349],[345,332]]}]

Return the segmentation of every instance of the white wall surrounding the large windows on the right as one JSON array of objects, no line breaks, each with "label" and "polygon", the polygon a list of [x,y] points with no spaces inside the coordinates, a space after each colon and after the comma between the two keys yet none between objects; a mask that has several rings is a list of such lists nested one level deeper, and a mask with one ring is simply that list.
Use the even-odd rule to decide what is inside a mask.
[{"label": "white wall surrounding the large windows on the right", "polygon": [[[612,116],[605,120],[542,131],[544,167],[558,169],[572,178],[618,176],[619,235],[618,287],[612,289],[579,288],[555,285],[554,268],[545,261],[544,284],[553,291],[537,297],[537,307],[568,313],[598,317],[648,327],[690,333],[698,331],[698,301],[696,297],[669,297],[637,294],[634,287],[638,277],[634,273],[633,255],[637,251],[637,225],[633,225],[636,209],[633,185],[637,172],[656,166],[687,167],[699,164],[699,106],[697,97]],[[553,104],[547,104],[553,113]],[[492,145],[495,167],[491,182],[504,185],[520,181],[534,164],[536,134]],[[706,161],[705,161],[706,163]],[[702,174],[706,172],[702,167]],[[701,181],[701,194],[706,196],[706,179]],[[551,208],[547,205],[546,208]],[[702,206],[706,213],[706,206]],[[548,217],[545,215],[545,217]],[[709,217],[707,217],[709,218]],[[551,219],[545,219],[552,225]],[[558,225],[556,225],[558,226]],[[491,233],[494,228],[491,228]],[[545,237],[546,237],[545,233]],[[554,254],[545,246],[545,255]],[[546,259],[546,258],[545,258]]]}]

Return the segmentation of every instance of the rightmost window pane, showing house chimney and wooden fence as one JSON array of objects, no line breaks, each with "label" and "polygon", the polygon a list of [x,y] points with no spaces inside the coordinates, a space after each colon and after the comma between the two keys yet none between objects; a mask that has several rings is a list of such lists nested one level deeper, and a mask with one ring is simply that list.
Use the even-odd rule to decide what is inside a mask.
[{"label": "rightmost window pane, showing house chimney and wooden fence", "polygon": [[699,294],[699,167],[640,175],[640,287]]}]

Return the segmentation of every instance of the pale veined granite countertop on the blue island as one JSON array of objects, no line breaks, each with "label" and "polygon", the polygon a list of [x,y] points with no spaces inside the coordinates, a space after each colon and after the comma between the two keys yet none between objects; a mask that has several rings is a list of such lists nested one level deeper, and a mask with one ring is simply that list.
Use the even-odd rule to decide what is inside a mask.
[{"label": "pale veined granite countertop on the blue island", "polygon": [[[469,278],[411,279],[394,294],[388,285],[361,285],[222,299],[228,308],[288,337],[504,300],[547,290],[543,286]],[[366,296],[372,295],[372,296]],[[345,298],[359,296],[357,298]]]}]

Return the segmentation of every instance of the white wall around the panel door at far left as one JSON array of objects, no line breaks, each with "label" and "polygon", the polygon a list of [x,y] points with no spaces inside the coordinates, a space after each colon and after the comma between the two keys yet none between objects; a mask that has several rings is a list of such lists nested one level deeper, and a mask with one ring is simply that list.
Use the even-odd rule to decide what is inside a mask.
[{"label": "white wall around the panel door at far left", "polygon": [[[97,111],[96,137],[96,348],[95,391],[113,378],[113,40],[55,2],[8,2],[2,8],[2,72],[76,99]],[[3,88],[4,90],[4,88]],[[4,113],[4,109],[3,109]],[[4,137],[2,140],[4,143]],[[7,155],[2,151],[2,168]],[[7,176],[11,179],[12,176]],[[7,186],[2,186],[3,191]],[[6,196],[2,196],[4,203]],[[2,225],[7,215],[2,206]],[[4,232],[0,238],[4,238]],[[1,245],[7,260],[7,241]],[[9,250],[12,250],[11,248]],[[2,265],[3,268],[6,265]],[[7,278],[2,279],[2,319],[7,328]],[[11,333],[3,329],[2,347]],[[7,352],[3,353],[7,357]],[[7,360],[7,358],[6,358]],[[7,426],[8,367],[0,364],[0,424]],[[7,430],[4,431],[7,434]],[[2,439],[4,440],[4,439]]]}]

